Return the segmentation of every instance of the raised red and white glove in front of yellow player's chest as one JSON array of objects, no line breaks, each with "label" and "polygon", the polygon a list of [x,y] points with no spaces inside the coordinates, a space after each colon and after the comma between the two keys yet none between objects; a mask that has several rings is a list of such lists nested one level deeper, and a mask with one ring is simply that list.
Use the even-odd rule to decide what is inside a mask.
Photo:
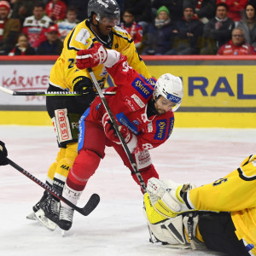
[{"label": "raised red and white glove in front of yellow player's chest", "polygon": [[100,43],[94,44],[91,49],[80,49],[77,53],[77,67],[84,69],[88,67],[96,67],[107,60],[107,49]]}]

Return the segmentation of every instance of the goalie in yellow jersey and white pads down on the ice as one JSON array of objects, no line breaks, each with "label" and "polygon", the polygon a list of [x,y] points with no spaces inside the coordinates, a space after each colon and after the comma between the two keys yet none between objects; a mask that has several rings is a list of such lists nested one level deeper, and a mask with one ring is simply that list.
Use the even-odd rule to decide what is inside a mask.
[{"label": "goalie in yellow jersey and white pads down on the ice", "polygon": [[217,181],[148,180],[144,213],[150,241],[232,256],[256,255],[256,154]]}]

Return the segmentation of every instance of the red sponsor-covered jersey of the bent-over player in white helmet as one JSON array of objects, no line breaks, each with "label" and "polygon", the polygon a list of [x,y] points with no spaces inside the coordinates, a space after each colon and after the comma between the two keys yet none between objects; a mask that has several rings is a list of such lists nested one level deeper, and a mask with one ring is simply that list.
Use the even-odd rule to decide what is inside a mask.
[{"label": "red sponsor-covered jersey of the bent-over player in white helmet", "polygon": [[[136,153],[166,142],[172,134],[174,114],[169,111],[148,118],[147,103],[153,95],[156,79],[145,79],[128,66],[126,59],[126,56],[121,55],[113,67],[106,67],[117,85],[107,89],[115,91],[115,95],[106,96],[106,100],[118,124],[125,125],[137,135]],[[102,122],[104,113],[106,110],[102,100],[97,96],[86,120]]]}]

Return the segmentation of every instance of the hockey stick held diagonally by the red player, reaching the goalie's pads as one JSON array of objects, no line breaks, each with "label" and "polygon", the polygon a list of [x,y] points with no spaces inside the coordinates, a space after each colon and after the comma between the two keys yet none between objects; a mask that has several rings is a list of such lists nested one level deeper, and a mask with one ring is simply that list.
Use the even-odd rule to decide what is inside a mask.
[{"label": "hockey stick held diagonally by the red player, reaching the goalie's pads", "polygon": [[106,108],[106,111],[109,115],[109,118],[110,118],[111,122],[113,123],[113,128],[114,128],[116,134],[118,135],[120,142],[122,143],[122,146],[125,150],[125,153],[126,153],[128,159],[129,159],[130,163],[131,163],[131,167],[133,169],[133,172],[135,172],[135,174],[137,175],[138,181],[141,184],[143,192],[146,193],[146,184],[143,180],[143,177],[142,177],[141,173],[138,172],[136,162],[133,160],[133,158],[131,156],[131,152],[130,152],[129,148],[127,147],[127,144],[125,143],[124,137],[122,136],[121,132],[119,131],[119,125],[117,124],[115,118],[113,117],[113,113],[112,113],[111,109],[108,106],[108,102],[107,102],[105,96],[102,93],[102,89],[101,89],[100,85],[98,84],[96,76],[93,73],[91,67],[87,68],[87,70],[90,73],[90,78],[92,79],[93,83],[95,84],[96,90],[97,90],[99,96],[102,99],[102,103],[103,103],[104,107]]}]

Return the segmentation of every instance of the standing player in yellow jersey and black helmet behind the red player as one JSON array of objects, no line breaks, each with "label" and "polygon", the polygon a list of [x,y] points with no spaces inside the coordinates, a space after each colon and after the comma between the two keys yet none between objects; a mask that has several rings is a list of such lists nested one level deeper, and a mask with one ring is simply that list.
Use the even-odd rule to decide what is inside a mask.
[{"label": "standing player in yellow jersey and black helmet behind the red player", "polygon": [[[47,96],[46,107],[55,127],[60,151],[55,162],[49,167],[46,182],[61,193],[67,174],[77,156],[79,118],[96,96],[94,84],[86,69],[76,67],[79,49],[90,49],[99,42],[107,49],[115,49],[127,56],[131,67],[150,78],[148,69],[137,54],[131,36],[119,28],[120,11],[115,0],[90,0],[88,19],[73,28],[64,41],[61,56],[55,61],[49,75],[48,91],[77,91],[82,96]],[[103,65],[93,68],[101,87],[104,87],[108,73]],[[50,230],[58,218],[59,202],[47,192],[33,207],[27,218],[38,218]]]}]

